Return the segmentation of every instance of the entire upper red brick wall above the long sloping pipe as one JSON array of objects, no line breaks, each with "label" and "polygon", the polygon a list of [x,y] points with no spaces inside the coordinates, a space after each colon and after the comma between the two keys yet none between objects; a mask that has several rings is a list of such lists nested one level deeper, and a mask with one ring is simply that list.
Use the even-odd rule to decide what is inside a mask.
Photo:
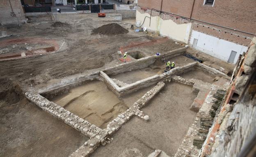
[{"label": "entire upper red brick wall above the long sloping pipe", "polygon": [[[138,5],[160,10],[162,0],[138,0]],[[215,0],[214,6],[195,0],[192,18],[256,33],[256,0]],[[190,18],[193,0],[163,0],[162,11]]]}]

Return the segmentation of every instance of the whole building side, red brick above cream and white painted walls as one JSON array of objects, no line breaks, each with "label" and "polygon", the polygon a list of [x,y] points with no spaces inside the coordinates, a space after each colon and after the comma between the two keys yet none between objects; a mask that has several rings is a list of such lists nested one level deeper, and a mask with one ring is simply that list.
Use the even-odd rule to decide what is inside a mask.
[{"label": "whole building side, red brick above cream and white painted walls", "polygon": [[235,64],[256,33],[254,0],[138,0],[137,26]]}]

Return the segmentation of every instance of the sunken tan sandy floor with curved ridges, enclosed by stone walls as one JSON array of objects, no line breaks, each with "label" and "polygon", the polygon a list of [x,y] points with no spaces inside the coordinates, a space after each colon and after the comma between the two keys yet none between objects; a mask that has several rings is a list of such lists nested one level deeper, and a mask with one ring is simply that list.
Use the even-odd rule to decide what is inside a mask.
[{"label": "sunken tan sandy floor with curved ridges, enclosed by stone walls", "polygon": [[128,108],[104,82],[98,80],[71,88],[49,100],[100,128],[105,128]]}]

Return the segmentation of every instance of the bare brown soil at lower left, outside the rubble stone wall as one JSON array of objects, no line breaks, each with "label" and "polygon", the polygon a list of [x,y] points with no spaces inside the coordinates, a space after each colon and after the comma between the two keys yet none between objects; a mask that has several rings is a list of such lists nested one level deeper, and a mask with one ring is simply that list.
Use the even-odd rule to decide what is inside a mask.
[{"label": "bare brown soil at lower left, outside the rubble stone wall", "polygon": [[[87,137],[17,94],[5,82],[0,92],[1,157],[68,157]],[[2,97],[4,96],[4,97]]]}]

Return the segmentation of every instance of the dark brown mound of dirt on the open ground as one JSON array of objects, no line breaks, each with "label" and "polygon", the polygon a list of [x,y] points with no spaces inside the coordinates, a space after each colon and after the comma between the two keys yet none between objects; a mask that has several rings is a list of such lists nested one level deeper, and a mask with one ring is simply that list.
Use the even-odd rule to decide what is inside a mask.
[{"label": "dark brown mound of dirt on the open ground", "polygon": [[116,34],[126,34],[129,31],[121,27],[117,23],[105,24],[101,27],[98,27],[92,31],[91,34],[103,34],[103,35],[116,35]]}]

